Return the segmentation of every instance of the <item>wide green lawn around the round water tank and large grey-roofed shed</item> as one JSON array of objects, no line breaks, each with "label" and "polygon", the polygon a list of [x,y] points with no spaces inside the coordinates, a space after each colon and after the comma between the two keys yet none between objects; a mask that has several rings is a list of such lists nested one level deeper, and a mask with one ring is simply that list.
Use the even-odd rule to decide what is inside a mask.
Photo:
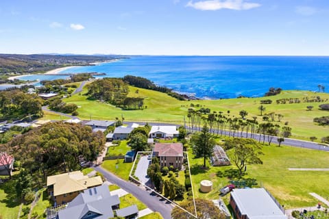
[{"label": "wide green lawn around the round water tank and large grey-roofed shed", "polygon": [[[310,149],[300,149],[291,146],[264,146],[263,165],[248,165],[247,178],[254,178],[258,186],[264,186],[281,205],[287,209],[316,205],[318,202],[309,192],[315,192],[328,197],[329,172],[290,171],[288,168],[328,168],[329,153]],[[228,178],[223,172],[234,166],[212,167],[207,162],[208,170],[202,170],[201,158],[195,159],[188,150],[191,165],[191,177],[196,198],[215,199],[219,189],[228,184]],[[199,184],[208,179],[213,183],[212,192],[199,192]],[[229,195],[224,197],[228,202]]]}]

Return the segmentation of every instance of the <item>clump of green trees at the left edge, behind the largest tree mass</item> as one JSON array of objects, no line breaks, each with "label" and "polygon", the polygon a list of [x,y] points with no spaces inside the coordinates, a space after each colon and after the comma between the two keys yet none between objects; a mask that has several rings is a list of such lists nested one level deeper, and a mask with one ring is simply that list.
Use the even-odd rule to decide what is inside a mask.
[{"label": "clump of green trees at the left edge, behind the largest tree mass", "polygon": [[25,94],[21,90],[0,92],[1,119],[20,119],[25,116],[41,117],[42,99],[36,94]]}]

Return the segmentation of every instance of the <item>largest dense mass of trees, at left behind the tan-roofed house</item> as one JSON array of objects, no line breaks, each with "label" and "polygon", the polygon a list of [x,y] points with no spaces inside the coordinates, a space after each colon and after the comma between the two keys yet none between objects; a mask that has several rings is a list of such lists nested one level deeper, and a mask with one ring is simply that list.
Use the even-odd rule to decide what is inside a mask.
[{"label": "largest dense mass of trees, at left behind the tan-roofed house", "polygon": [[16,136],[0,151],[14,155],[29,172],[41,174],[67,172],[80,168],[80,158],[97,159],[103,151],[105,138],[90,127],[70,123],[47,123]]}]

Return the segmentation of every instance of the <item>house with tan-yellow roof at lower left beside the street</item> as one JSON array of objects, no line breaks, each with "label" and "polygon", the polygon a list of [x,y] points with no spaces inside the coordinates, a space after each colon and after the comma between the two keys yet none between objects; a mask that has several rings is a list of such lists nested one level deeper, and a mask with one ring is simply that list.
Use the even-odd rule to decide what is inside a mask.
[{"label": "house with tan-yellow roof at lower left beside the street", "polygon": [[69,203],[80,192],[103,184],[101,177],[88,177],[81,171],[66,172],[47,177],[48,194],[56,205]]}]

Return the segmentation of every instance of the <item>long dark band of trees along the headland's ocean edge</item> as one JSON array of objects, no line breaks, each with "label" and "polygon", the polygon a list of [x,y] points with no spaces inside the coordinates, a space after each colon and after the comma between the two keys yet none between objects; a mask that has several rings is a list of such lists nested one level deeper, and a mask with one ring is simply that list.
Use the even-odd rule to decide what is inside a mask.
[{"label": "long dark band of trees along the headland's ocean edge", "polygon": [[173,92],[170,88],[166,88],[163,86],[157,86],[154,82],[150,81],[149,79],[146,79],[144,77],[136,77],[133,75],[125,75],[123,77],[123,81],[126,81],[131,86],[135,86],[137,88],[144,88],[148,90],[156,90],[162,93],[166,93],[169,96],[173,96],[175,99],[179,99],[180,101],[184,101],[186,99],[186,96],[182,94],[178,94],[176,92]]}]

